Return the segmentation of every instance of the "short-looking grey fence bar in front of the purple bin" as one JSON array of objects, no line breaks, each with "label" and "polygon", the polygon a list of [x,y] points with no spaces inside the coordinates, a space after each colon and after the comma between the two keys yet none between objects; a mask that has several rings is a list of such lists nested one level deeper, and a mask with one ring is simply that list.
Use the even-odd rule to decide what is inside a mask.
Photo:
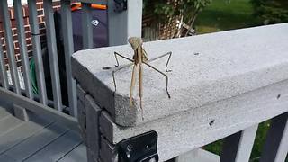
[{"label": "short-looking grey fence bar in front of the purple bin", "polygon": [[83,48],[93,48],[93,30],[92,30],[92,15],[90,4],[82,3],[82,35]]}]

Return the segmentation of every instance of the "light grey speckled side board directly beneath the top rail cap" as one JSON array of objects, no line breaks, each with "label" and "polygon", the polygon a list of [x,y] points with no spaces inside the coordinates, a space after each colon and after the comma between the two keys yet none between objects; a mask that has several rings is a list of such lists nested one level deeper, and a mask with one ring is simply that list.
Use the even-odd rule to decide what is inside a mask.
[{"label": "light grey speckled side board directly beneath the top rail cap", "polygon": [[157,153],[163,162],[288,112],[287,104],[285,80],[134,127],[115,124],[107,112],[102,112],[99,123],[103,136],[112,144],[157,131]]}]

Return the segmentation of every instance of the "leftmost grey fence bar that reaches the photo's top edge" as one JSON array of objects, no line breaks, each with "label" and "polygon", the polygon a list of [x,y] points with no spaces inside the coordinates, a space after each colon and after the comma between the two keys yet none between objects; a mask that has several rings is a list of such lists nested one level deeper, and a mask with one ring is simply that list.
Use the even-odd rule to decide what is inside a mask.
[{"label": "leftmost grey fence bar that reaches the photo's top edge", "polygon": [[2,20],[4,24],[4,38],[6,40],[7,56],[9,58],[9,67],[12,76],[12,82],[14,85],[14,92],[16,94],[20,94],[21,90],[18,77],[18,70],[17,65],[15,63],[14,41],[10,25],[10,16],[8,15],[8,4],[6,0],[0,1],[0,12],[3,18]]}]

